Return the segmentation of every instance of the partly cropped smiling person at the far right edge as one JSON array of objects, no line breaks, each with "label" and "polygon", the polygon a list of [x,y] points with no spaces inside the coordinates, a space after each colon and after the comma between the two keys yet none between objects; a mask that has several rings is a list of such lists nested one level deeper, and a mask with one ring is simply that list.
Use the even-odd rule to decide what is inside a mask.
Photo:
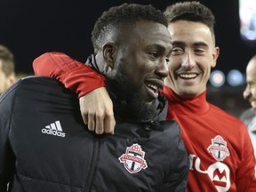
[{"label": "partly cropped smiling person at the far right edge", "polygon": [[254,156],[256,156],[256,54],[247,64],[246,84],[243,92],[244,100],[248,100],[252,108],[245,110],[240,119],[247,126],[254,148]]}]

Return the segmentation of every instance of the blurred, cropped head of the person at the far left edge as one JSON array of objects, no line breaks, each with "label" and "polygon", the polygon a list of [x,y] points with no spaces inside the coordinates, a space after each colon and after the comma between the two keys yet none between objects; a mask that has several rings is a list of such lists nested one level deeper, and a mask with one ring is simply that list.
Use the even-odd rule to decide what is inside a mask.
[{"label": "blurred, cropped head of the person at the far left edge", "polygon": [[16,81],[15,64],[12,52],[0,44],[0,94]]}]

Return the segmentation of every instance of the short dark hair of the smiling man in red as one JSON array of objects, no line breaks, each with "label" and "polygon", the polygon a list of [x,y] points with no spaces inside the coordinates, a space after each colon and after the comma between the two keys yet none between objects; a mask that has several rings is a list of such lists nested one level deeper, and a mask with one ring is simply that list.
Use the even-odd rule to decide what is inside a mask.
[{"label": "short dark hair of the smiling man in red", "polygon": [[215,18],[212,11],[204,4],[196,1],[172,4],[166,7],[164,16],[168,23],[175,22],[177,20],[201,22],[210,28],[213,40],[215,41]]}]

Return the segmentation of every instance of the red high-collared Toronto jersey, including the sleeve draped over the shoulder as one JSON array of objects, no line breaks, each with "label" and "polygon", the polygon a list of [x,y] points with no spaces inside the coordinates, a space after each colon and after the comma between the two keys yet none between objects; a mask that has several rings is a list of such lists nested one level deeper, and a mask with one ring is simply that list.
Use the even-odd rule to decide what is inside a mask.
[{"label": "red high-collared Toronto jersey, including the sleeve draped over the shoulder", "polygon": [[[105,86],[105,78],[83,63],[60,52],[45,53],[33,63],[37,76],[52,76],[83,96]],[[190,157],[188,191],[255,192],[255,158],[245,125],[206,101],[206,91],[193,100],[182,100],[164,87],[167,118],[180,123]]]}]

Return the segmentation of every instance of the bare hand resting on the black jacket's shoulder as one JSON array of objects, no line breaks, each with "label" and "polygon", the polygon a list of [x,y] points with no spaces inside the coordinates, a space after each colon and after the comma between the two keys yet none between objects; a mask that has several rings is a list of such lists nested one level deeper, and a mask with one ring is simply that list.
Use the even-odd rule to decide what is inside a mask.
[{"label": "bare hand resting on the black jacket's shoulder", "polygon": [[84,124],[96,134],[114,134],[116,120],[113,103],[105,87],[100,87],[79,99]]}]

